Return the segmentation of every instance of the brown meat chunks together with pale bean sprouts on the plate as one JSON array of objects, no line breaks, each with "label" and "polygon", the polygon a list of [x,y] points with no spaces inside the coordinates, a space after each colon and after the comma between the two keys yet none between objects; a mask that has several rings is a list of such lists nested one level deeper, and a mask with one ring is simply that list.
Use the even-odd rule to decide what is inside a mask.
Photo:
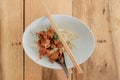
[{"label": "brown meat chunks together with pale bean sprouts on the plate", "polygon": [[[75,38],[75,35],[63,29],[59,30],[65,38],[68,46],[72,48],[72,39]],[[46,30],[37,32],[36,34],[38,36],[37,44],[39,46],[40,59],[43,56],[47,56],[49,61],[54,63],[55,60],[62,57],[62,54],[65,52],[63,44],[56,32],[51,27],[47,28]]]}]

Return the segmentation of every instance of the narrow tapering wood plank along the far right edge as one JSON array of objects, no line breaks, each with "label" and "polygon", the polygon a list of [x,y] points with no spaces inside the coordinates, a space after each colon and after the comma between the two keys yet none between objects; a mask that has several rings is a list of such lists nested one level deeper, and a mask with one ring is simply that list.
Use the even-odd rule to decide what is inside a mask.
[{"label": "narrow tapering wood plank along the far right edge", "polygon": [[120,79],[120,0],[110,0],[110,27],[114,44],[116,64]]}]

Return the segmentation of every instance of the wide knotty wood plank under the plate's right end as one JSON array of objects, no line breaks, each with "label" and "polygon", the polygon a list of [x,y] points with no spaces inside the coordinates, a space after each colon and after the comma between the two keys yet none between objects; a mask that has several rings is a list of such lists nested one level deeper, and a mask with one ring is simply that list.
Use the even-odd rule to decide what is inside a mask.
[{"label": "wide knotty wood plank under the plate's right end", "polygon": [[89,25],[96,43],[94,54],[82,64],[83,74],[73,70],[73,80],[118,80],[110,33],[109,0],[73,0],[73,16]]}]

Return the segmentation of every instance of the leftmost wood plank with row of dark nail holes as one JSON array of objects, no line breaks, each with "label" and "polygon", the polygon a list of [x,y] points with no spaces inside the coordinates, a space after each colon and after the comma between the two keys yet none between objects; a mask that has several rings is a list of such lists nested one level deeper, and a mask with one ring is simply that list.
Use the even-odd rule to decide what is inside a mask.
[{"label": "leftmost wood plank with row of dark nail holes", "polygon": [[0,2],[2,80],[23,80],[23,1]]}]

